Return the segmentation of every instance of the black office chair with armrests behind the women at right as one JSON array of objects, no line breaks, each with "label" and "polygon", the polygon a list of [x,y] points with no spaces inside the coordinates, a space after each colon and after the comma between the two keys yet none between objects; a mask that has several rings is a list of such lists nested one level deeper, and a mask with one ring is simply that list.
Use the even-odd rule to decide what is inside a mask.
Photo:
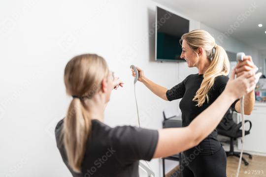
[{"label": "black office chair with armrests behind the women at right", "polygon": [[[245,130],[245,135],[248,135],[250,134],[252,123],[249,120],[245,120],[245,123],[246,122],[249,122],[250,124],[249,130]],[[233,121],[233,110],[231,108],[227,111],[224,118],[217,126],[217,131],[219,135],[230,137],[230,151],[226,151],[227,156],[240,157],[240,152],[235,152],[233,150],[233,141],[236,140],[236,138],[242,137],[242,130],[240,130],[241,126],[242,126],[242,122],[236,124]],[[248,157],[252,159],[251,154],[246,153],[246,152],[243,152],[243,154],[248,155]],[[242,161],[244,161],[244,164],[246,166],[249,164],[244,157],[242,157]]]}]

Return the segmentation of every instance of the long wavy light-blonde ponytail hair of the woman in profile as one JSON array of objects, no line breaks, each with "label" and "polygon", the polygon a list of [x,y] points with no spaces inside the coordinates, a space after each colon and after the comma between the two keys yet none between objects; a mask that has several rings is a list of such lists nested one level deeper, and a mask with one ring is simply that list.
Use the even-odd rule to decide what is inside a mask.
[{"label": "long wavy light-blonde ponytail hair of the woman in profile", "polygon": [[220,75],[227,76],[229,74],[229,59],[224,48],[217,45],[215,39],[205,30],[196,29],[185,33],[181,37],[181,41],[183,40],[186,40],[187,44],[194,51],[201,47],[205,51],[207,58],[211,60],[209,67],[203,74],[200,88],[193,98],[193,101],[197,101],[197,106],[200,107],[206,99],[209,102],[208,91],[213,86],[215,78]]}]

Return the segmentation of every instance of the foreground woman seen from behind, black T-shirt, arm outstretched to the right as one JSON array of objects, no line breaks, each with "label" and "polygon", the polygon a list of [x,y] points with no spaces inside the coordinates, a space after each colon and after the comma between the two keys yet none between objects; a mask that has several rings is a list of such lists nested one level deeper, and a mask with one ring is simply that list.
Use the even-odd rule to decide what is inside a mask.
[{"label": "foreground woman seen from behind, black T-shirt, arm outstretched to the right", "polygon": [[103,122],[104,109],[112,89],[122,87],[123,82],[113,77],[100,56],[76,56],[65,68],[66,92],[73,99],[66,117],[56,126],[57,147],[73,177],[138,177],[138,160],[164,157],[198,145],[230,105],[254,89],[261,75],[255,72],[245,72],[237,79],[232,75],[224,92],[187,127],[112,128]]}]

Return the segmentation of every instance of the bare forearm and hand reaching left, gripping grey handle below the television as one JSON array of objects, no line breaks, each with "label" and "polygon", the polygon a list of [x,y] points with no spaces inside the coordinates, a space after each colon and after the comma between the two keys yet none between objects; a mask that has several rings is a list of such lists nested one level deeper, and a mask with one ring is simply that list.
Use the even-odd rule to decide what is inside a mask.
[{"label": "bare forearm and hand reaching left, gripping grey handle below the television", "polygon": [[[138,81],[142,82],[148,89],[150,89],[154,94],[156,94],[157,96],[159,96],[160,98],[168,101],[167,97],[166,97],[166,91],[168,89],[152,82],[151,80],[149,80],[148,78],[146,78],[144,76],[144,71],[142,69],[140,69],[139,67],[136,67],[136,69],[138,70]],[[134,70],[132,69],[132,76],[136,76],[136,73],[134,72]]]}]

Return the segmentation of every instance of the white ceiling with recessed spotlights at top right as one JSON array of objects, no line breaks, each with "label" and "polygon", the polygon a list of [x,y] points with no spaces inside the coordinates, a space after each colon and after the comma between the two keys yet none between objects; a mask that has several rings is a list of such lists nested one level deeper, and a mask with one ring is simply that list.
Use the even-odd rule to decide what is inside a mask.
[{"label": "white ceiling with recessed spotlights at top right", "polygon": [[[154,0],[266,53],[266,0]],[[239,17],[240,16],[240,17]],[[239,24],[239,27],[231,27]],[[263,24],[259,28],[258,24]],[[229,31],[231,32],[231,31]]]}]

